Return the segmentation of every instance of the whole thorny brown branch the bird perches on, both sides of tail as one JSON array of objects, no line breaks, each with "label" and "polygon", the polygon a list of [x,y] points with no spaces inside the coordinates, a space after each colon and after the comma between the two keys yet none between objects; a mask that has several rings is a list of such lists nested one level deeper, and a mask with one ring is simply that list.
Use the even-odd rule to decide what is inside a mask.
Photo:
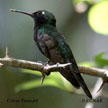
[{"label": "whole thorny brown branch the bird perches on, both sides of tail", "polygon": [[[43,63],[39,63],[39,62],[32,62],[27,60],[11,58],[8,55],[7,48],[6,48],[6,56],[4,58],[0,58],[0,67],[11,66],[17,68],[31,69],[31,70],[40,71],[41,73],[45,73],[45,74],[48,74],[49,72],[57,72],[61,68],[65,69],[70,64],[71,63],[66,63],[66,64],[57,63],[54,65],[44,65]],[[80,73],[90,75],[90,76],[100,77],[104,81],[108,82],[108,70],[84,67],[84,66],[79,66],[79,70]]]}]

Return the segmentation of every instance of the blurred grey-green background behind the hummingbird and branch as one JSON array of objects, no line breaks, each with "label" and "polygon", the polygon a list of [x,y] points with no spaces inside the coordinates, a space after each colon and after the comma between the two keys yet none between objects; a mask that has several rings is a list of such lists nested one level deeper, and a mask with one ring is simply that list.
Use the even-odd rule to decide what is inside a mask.
[{"label": "blurred grey-green background behind the hummingbird and branch", "polygon": [[[33,20],[25,15],[9,12],[9,9],[14,8],[27,12],[42,9],[52,12],[57,18],[58,30],[65,36],[78,63],[92,62],[93,58],[101,52],[105,52],[107,57],[107,35],[97,34],[91,29],[88,24],[87,7],[84,8],[85,12],[78,13],[75,7],[76,1],[78,0],[74,2],[72,0],[0,0],[0,56],[5,56],[5,48],[8,46],[9,54],[14,58],[43,62],[47,60],[33,40]],[[91,5],[93,4],[90,2],[88,9]],[[54,86],[31,87],[32,89],[15,92],[17,85],[40,79],[39,76],[25,74],[21,71],[24,70],[12,67],[4,67],[0,70],[1,108],[83,108],[85,106],[86,103],[83,103],[82,99],[87,99],[87,96],[69,93]],[[92,89],[97,78],[83,76],[88,87]],[[35,86],[35,83],[33,84]],[[107,84],[104,85],[104,90],[108,90]],[[8,98],[38,98],[38,102],[7,102]],[[101,98],[103,102],[94,103],[94,105],[98,108],[106,108],[108,99]]]}]

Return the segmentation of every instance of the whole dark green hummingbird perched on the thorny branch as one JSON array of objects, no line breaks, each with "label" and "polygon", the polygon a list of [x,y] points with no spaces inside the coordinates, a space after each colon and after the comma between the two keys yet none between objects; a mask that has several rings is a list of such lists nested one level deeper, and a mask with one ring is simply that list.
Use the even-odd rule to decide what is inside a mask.
[{"label": "whole dark green hummingbird perched on the thorny branch", "polygon": [[71,63],[67,69],[61,69],[60,74],[75,88],[82,87],[85,94],[92,98],[79,72],[72,50],[65,41],[64,36],[57,30],[55,16],[47,10],[39,10],[33,13],[15,9],[11,9],[11,11],[28,15],[34,19],[34,41],[41,53],[53,64]]}]

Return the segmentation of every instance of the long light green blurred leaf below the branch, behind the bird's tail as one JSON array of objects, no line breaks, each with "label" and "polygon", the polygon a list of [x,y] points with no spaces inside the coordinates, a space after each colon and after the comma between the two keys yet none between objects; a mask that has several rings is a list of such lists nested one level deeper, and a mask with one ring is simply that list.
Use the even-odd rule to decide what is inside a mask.
[{"label": "long light green blurred leaf below the branch, behind the bird's tail", "polygon": [[[25,73],[32,73],[32,72],[25,72]],[[34,73],[33,73],[34,74]],[[41,86],[41,79],[36,79],[32,81],[27,81],[22,84],[19,84],[15,87],[15,92],[20,92],[22,90],[29,90],[36,87],[43,87],[43,86],[54,86],[66,91],[71,91],[72,86],[71,84],[66,81],[59,72],[51,73],[50,76],[46,77],[43,85]]]}]

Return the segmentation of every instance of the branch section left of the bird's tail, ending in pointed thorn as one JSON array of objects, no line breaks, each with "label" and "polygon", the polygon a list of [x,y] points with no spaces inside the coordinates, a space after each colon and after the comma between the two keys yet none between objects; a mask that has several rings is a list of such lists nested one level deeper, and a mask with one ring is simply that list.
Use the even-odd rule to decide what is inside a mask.
[{"label": "branch section left of the bird's tail, ending in pointed thorn", "polygon": [[71,64],[71,63],[55,64],[55,65],[50,66],[50,65],[44,65],[38,62],[19,60],[19,59],[14,59],[10,57],[0,58],[0,63],[3,64],[4,66],[37,70],[44,73],[59,71],[59,69],[66,68]]}]

